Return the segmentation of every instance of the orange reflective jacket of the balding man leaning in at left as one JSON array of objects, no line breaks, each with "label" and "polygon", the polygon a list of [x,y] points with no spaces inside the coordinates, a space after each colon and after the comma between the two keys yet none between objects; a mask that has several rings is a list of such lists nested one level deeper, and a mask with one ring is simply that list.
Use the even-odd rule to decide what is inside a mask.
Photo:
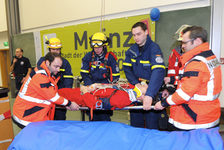
[{"label": "orange reflective jacket of the balding man leaning in at left", "polygon": [[14,119],[25,126],[29,122],[52,120],[55,104],[65,106],[69,102],[57,93],[59,79],[51,76],[45,62],[36,67],[16,97],[13,105]]}]

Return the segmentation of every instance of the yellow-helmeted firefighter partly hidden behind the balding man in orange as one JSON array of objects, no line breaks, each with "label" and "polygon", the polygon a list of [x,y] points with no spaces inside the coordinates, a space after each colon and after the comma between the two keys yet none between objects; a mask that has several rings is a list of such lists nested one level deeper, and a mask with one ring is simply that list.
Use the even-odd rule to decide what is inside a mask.
[{"label": "yellow-helmeted firefighter partly hidden behind the balding man in orange", "polygon": [[[61,54],[62,44],[58,38],[51,38],[51,39],[47,40],[46,44],[48,44],[47,47],[50,52]],[[45,58],[41,57],[37,62],[37,66],[40,66],[44,60],[45,60]],[[60,69],[59,74],[60,74],[61,78],[57,83],[58,89],[72,88],[73,87],[73,74],[72,74],[71,65],[68,62],[68,60],[66,60],[63,57],[62,57],[62,67]],[[66,112],[67,112],[67,109],[60,108],[59,106],[56,106],[54,120],[66,120]]]}]

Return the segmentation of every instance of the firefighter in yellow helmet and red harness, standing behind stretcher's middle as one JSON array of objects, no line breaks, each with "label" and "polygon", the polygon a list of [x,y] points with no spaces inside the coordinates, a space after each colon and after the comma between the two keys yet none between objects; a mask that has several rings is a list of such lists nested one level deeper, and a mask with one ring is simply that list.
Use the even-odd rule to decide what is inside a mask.
[{"label": "firefighter in yellow helmet and red harness, standing behind stretcher's middle", "polygon": [[[93,49],[82,59],[80,74],[84,85],[93,83],[116,83],[120,72],[117,58],[112,52],[107,52],[109,38],[102,32],[97,32],[90,37],[90,46]],[[96,110],[93,112],[92,121],[110,121],[112,111]]]}]

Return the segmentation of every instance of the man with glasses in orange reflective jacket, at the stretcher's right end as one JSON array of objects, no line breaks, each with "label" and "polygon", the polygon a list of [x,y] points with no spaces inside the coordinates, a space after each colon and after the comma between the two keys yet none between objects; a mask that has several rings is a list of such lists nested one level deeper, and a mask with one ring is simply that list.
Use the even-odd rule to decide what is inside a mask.
[{"label": "man with glasses in orange reflective jacket, at the stretcher's right end", "polygon": [[219,125],[221,66],[209,49],[207,32],[192,26],[183,30],[182,67],[177,90],[155,109],[170,107],[170,130],[194,130]]}]

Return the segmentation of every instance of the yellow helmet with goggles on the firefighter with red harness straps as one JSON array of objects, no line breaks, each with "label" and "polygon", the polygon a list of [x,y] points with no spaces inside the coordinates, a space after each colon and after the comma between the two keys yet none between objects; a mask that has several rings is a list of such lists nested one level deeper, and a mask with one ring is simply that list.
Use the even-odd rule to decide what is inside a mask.
[{"label": "yellow helmet with goggles on the firefighter with red harness straps", "polygon": [[94,33],[90,37],[90,46],[93,47],[101,47],[109,44],[109,38],[102,32]]}]

